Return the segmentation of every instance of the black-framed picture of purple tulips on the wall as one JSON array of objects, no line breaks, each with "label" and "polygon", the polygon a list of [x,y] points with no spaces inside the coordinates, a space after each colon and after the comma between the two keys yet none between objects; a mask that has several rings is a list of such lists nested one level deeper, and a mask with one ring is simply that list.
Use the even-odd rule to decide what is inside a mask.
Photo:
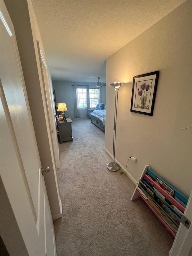
[{"label": "black-framed picture of purple tulips on the wall", "polygon": [[131,112],[153,115],[159,71],[133,78]]}]

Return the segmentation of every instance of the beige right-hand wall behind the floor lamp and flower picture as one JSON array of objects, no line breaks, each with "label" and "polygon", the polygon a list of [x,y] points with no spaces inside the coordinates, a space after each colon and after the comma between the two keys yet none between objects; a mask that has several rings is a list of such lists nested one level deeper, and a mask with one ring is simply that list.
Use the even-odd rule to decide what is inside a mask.
[{"label": "beige right-hand wall behind the floor lamp and flower picture", "polygon": [[[115,90],[119,90],[116,159],[136,181],[146,164],[186,196],[192,188],[192,2],[187,1],[107,59],[105,148],[113,151]],[[153,116],[130,112],[133,77],[160,70]]]}]

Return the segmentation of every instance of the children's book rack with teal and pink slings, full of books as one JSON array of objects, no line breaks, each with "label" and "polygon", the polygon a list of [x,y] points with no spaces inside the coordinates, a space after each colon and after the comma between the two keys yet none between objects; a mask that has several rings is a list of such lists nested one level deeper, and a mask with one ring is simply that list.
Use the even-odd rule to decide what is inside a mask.
[{"label": "children's book rack with teal and pink slings, full of books", "polygon": [[131,197],[141,197],[167,230],[176,236],[188,198],[146,165]]}]

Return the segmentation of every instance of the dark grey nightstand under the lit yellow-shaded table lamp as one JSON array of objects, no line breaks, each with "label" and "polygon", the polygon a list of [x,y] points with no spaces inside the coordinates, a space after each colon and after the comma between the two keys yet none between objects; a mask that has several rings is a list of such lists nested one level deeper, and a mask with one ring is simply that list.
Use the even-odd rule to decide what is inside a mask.
[{"label": "dark grey nightstand under the lit yellow-shaded table lamp", "polygon": [[66,120],[67,122],[57,121],[60,143],[63,143],[63,141],[67,141],[67,140],[70,140],[70,142],[73,142],[72,129],[71,129],[72,120],[70,119],[70,117],[66,118]]}]

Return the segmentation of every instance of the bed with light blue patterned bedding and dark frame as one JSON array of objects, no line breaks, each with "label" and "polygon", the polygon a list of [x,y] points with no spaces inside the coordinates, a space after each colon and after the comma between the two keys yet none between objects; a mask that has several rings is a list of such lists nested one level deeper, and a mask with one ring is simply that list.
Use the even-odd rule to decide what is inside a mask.
[{"label": "bed with light blue patterned bedding and dark frame", "polygon": [[90,113],[90,116],[91,123],[105,133],[105,109],[94,110],[92,113]]}]

